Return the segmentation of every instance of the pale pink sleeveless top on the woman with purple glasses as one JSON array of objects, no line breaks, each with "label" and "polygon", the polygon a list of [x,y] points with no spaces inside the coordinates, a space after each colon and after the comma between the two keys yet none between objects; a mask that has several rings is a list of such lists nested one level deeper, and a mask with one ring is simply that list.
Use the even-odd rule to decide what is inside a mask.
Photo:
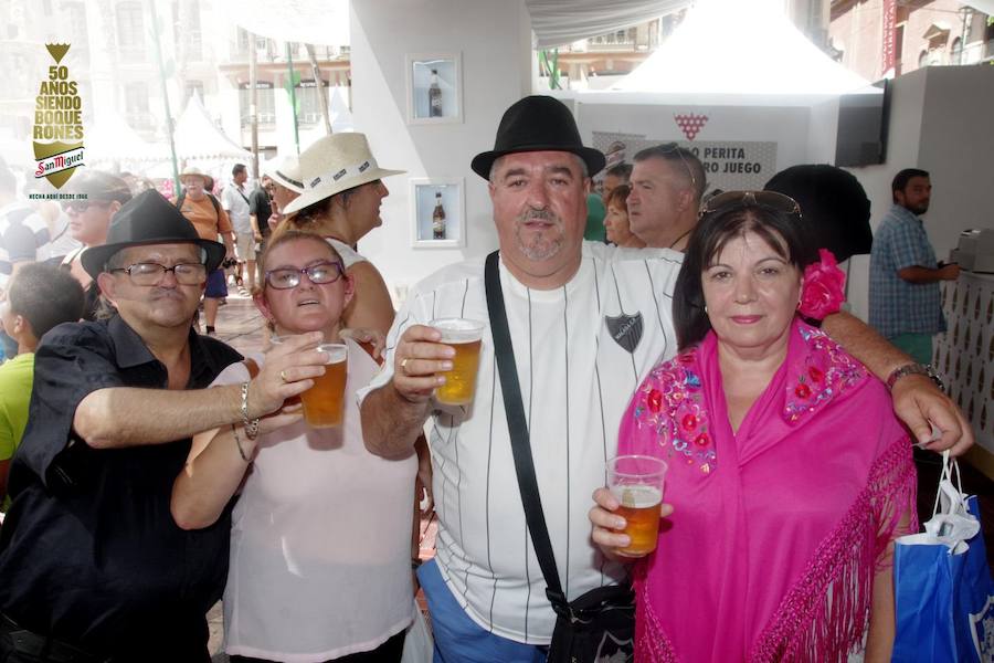
[{"label": "pale pink sleeveless top on the woman with purple glasses", "polygon": [[[416,457],[366,450],[356,390],[379,370],[349,346],[345,422],[260,436],[234,508],[224,592],[225,651],[313,663],[376,649],[413,615]],[[262,366],[265,357],[252,357]],[[247,379],[243,364],[215,383]]]}]

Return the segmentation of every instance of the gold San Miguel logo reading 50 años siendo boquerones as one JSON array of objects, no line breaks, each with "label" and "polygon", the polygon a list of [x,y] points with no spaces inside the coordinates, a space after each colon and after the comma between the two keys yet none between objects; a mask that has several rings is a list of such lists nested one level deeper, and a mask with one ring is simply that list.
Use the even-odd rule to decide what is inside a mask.
[{"label": "gold San Miguel logo reading 50 a\u00f1os siendo boquerones", "polygon": [[68,69],[60,64],[70,44],[45,44],[55,64],[34,98],[35,179],[45,178],[61,189],[83,166],[83,103]]}]

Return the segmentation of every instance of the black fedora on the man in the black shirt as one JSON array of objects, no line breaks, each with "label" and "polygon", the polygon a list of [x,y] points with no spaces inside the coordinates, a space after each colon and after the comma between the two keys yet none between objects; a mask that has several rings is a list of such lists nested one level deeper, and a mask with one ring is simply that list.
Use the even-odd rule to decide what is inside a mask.
[{"label": "black fedora on the man in the black shirt", "polygon": [[112,255],[128,246],[144,244],[197,244],[204,250],[203,263],[213,272],[224,260],[224,245],[202,240],[193,224],[158,191],[145,191],[125,203],[110,220],[107,242],[91,246],[80,260],[94,278]]}]

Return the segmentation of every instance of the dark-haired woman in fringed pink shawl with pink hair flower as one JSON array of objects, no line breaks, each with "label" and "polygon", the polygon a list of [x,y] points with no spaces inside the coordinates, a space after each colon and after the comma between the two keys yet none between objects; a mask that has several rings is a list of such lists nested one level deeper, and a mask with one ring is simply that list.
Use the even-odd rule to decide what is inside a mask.
[{"label": "dark-haired woman in fringed pink shawl with pink hair flower", "polygon": [[[910,440],[884,385],[801,319],[836,311],[844,276],[797,213],[772,192],[710,201],[674,294],[680,351],[622,418],[618,453],[665,459],[674,506],[634,567],[636,662],[846,661],[864,643],[890,660]],[[613,555],[617,502],[594,498]]]}]

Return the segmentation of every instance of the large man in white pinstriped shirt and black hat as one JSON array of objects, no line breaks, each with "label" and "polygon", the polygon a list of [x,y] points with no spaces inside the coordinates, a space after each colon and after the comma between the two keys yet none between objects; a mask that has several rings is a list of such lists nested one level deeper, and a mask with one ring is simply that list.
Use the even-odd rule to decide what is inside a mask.
[{"label": "large man in white pinstriped shirt and black hat", "polygon": [[[430,323],[494,319],[490,313],[500,309],[495,302],[488,307],[494,284],[503,291],[563,592],[573,600],[625,578],[624,567],[591,544],[586,514],[591,494],[604,485],[631,396],[660,357],[676,352],[670,306],[681,254],[583,241],[590,176],[603,166],[604,156],[583,146],[561,102],[529,96],[512,104],[494,149],[472,162],[489,183],[499,252],[443,267],[411,290],[388,337],[384,370],[360,392],[373,453],[410,453],[432,418],[438,546],[417,576],[436,661],[544,661],[556,623],[526,525],[505,413],[505,393],[512,390],[501,389],[506,377],[498,375],[490,324],[473,402],[452,407],[433,399],[454,348]],[[954,421],[945,410],[942,418]]]}]

